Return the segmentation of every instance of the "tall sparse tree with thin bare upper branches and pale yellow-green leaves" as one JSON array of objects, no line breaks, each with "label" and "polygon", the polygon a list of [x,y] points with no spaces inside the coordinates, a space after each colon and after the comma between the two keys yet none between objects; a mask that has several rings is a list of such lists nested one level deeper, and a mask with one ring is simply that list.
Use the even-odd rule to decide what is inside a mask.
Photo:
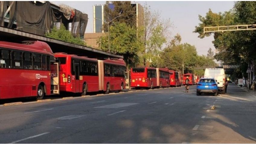
[{"label": "tall sparse tree with thin bare upper branches and pale yellow-green leaves", "polygon": [[162,64],[162,48],[171,27],[170,19],[161,18],[159,11],[152,11],[149,5],[144,5],[144,51],[140,65],[159,67]]}]

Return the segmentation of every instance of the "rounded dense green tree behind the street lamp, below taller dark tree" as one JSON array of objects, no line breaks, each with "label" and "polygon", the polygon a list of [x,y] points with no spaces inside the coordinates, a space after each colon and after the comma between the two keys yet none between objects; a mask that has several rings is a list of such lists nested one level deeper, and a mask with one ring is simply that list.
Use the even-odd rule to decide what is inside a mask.
[{"label": "rounded dense green tree behind the street lamp, below taller dark tree", "polygon": [[[139,62],[138,54],[143,50],[143,41],[140,38],[142,30],[126,23],[115,23],[110,26],[109,32],[110,52],[123,55],[128,67],[136,66]],[[108,51],[108,36],[102,37],[101,47]]]}]

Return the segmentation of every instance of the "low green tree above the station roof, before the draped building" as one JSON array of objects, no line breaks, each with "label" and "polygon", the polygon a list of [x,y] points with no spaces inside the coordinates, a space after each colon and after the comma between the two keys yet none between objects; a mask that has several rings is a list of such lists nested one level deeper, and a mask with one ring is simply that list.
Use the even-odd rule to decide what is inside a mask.
[{"label": "low green tree above the station roof, before the draped building", "polygon": [[60,28],[57,29],[53,27],[50,33],[45,34],[46,37],[53,38],[56,40],[62,40],[68,43],[74,43],[85,46],[85,42],[79,37],[73,37],[69,30],[66,30],[63,24],[60,25]]}]

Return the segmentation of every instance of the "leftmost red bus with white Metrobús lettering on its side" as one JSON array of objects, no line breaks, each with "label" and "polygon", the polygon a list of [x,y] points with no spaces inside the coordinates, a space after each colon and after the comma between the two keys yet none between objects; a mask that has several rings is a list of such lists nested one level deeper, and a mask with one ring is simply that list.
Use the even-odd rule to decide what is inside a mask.
[{"label": "leftmost red bus with white Metrob\u00fas lettering on its side", "polygon": [[1,41],[0,51],[0,99],[36,97],[38,100],[59,94],[58,64],[48,44]]}]

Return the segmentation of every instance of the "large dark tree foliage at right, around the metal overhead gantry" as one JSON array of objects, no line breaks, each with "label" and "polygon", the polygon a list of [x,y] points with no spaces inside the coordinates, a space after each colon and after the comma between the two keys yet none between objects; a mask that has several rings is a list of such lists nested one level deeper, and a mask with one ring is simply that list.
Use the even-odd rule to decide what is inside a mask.
[{"label": "large dark tree foliage at right, around the metal overhead gantry", "polygon": [[[254,50],[256,45],[255,30],[203,34],[203,27],[255,24],[255,10],[255,1],[235,2],[234,8],[230,11],[225,11],[223,14],[220,12],[213,13],[209,10],[205,17],[199,15],[200,24],[195,27],[194,32],[198,33],[200,38],[210,36],[211,34],[214,35],[213,44],[218,50],[218,53],[215,55],[217,60],[224,61],[224,64],[246,65],[248,61],[256,59],[256,51]],[[241,71],[244,70],[241,69]]]}]

